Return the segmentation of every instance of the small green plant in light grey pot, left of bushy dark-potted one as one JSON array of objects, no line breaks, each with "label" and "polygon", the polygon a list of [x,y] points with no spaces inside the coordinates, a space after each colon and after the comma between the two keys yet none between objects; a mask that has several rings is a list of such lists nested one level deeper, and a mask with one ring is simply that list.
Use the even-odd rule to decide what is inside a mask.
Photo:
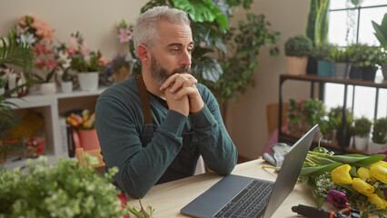
[{"label": "small green plant in light grey pot, left of bushy dark-potted one", "polygon": [[351,69],[350,56],[351,50],[346,47],[334,46],[330,54],[333,61],[333,78],[347,79]]}]

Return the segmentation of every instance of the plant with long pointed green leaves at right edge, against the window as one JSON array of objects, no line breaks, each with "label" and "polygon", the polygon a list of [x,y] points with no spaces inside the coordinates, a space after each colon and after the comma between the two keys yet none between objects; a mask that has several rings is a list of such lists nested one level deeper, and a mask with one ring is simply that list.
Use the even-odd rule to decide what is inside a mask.
[{"label": "plant with long pointed green leaves at right edge, against the window", "polygon": [[372,21],[372,26],[375,30],[373,34],[379,40],[381,48],[383,49],[383,58],[380,64],[382,65],[383,77],[387,79],[387,13],[384,14],[381,25]]}]

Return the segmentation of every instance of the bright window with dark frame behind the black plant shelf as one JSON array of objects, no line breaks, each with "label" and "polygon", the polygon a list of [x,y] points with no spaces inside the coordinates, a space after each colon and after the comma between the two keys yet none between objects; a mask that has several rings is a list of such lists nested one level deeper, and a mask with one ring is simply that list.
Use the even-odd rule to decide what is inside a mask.
[{"label": "bright window with dark frame behind the black plant shelf", "polygon": [[[382,17],[387,13],[387,0],[360,0],[360,6],[354,6],[351,0],[331,0],[328,41],[336,45],[363,43],[380,45],[373,35],[372,20],[381,24]],[[375,80],[382,80],[382,70],[376,73]],[[328,108],[342,105],[343,84],[326,84],[324,100]],[[353,97],[354,94],[354,97]],[[376,89],[363,86],[348,86],[348,102],[352,105],[355,118],[362,115],[373,119],[375,111]],[[380,89],[377,117],[387,116],[387,90]]]}]

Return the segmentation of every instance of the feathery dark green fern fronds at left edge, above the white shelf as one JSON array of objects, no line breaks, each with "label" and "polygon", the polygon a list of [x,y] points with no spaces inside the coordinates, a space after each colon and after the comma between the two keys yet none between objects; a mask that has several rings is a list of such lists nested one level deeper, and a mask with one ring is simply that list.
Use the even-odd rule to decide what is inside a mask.
[{"label": "feathery dark green fern fronds at left edge, above the white shelf", "polygon": [[26,78],[32,76],[35,54],[28,45],[23,45],[15,41],[15,37],[8,37],[8,42],[4,38],[0,40],[0,65],[13,64],[23,68]]}]

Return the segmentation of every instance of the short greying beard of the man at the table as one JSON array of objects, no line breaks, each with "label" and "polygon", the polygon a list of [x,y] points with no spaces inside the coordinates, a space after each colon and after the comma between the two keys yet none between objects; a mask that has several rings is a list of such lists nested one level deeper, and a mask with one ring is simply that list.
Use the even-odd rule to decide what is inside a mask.
[{"label": "short greying beard of the man at the table", "polygon": [[190,66],[182,66],[180,68],[174,69],[174,71],[169,74],[168,70],[165,69],[154,57],[151,58],[151,74],[154,77],[154,80],[157,84],[164,84],[165,81],[169,78],[169,76],[173,74],[180,74],[187,72],[190,74],[191,67]]}]

